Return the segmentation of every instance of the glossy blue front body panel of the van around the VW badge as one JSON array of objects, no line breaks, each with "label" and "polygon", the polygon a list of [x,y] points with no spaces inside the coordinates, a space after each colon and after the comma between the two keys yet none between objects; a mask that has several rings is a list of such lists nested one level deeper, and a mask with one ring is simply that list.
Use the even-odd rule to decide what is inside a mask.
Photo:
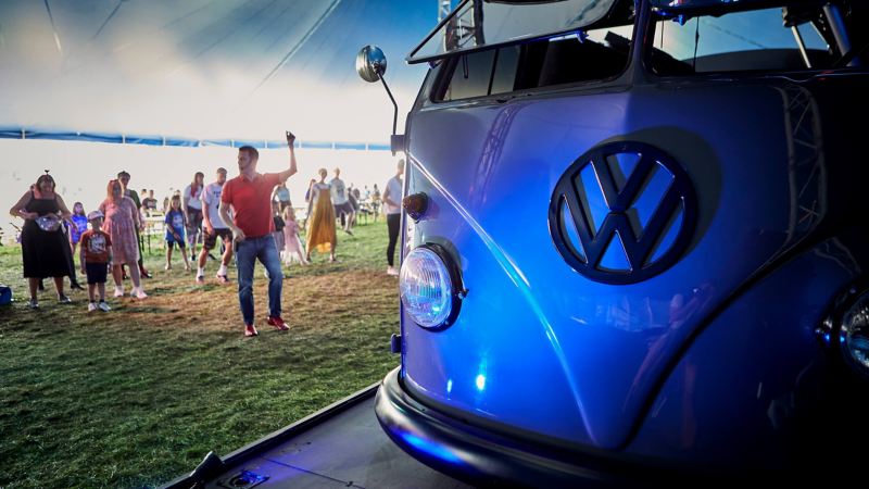
[{"label": "glossy blue front body panel of the van around the VW badge", "polygon": [[[709,318],[821,233],[830,209],[856,195],[856,184],[829,191],[831,181],[846,180],[846,166],[831,164],[832,150],[824,150],[843,135],[830,129],[830,114],[854,103],[837,99],[839,83],[866,78],[695,82],[416,111],[408,191],[428,193],[431,208],[410,223],[405,253],[442,243],[459,262],[468,293],[444,330],[403,316],[407,388],[423,402],[505,431],[624,447]],[[578,193],[584,191],[592,233],[605,227],[614,202],[584,160],[620,143],[628,150],[603,159],[622,177],[613,177],[616,192],[642,166],[628,153],[653,148],[684,172],[696,205],[687,237],[678,235],[690,220],[678,209],[650,231],[659,236],[647,262],[684,239],[672,260],[627,281],[606,279],[633,264],[621,228],[599,243],[594,277],[577,265],[581,249],[577,259],[559,248],[551,212],[572,172],[577,188],[584,187]],[[834,155],[848,154],[849,145],[835,140]],[[644,178],[621,210],[637,237],[667,199],[655,178]],[[566,239],[582,248],[571,233]]]}]

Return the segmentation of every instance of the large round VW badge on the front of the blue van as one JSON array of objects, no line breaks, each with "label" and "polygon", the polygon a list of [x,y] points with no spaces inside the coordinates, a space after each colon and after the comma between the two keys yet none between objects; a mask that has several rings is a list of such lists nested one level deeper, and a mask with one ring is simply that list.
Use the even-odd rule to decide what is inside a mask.
[{"label": "large round VW badge on the front of the blue van", "polygon": [[696,221],[688,173],[643,142],[610,142],[580,156],[555,185],[549,212],[564,260],[605,284],[634,284],[672,266]]}]

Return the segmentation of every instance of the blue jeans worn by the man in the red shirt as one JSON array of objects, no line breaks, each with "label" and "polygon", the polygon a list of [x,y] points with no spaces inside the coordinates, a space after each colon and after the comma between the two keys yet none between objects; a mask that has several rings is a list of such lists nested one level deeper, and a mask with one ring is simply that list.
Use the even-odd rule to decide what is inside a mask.
[{"label": "blue jeans worn by the man in the red shirt", "polygon": [[236,241],[236,266],[238,266],[238,302],[244,324],[253,324],[253,263],[254,260],[268,271],[268,315],[280,316],[280,293],[284,288],[284,273],[280,258],[272,235],[260,238],[245,238]]}]

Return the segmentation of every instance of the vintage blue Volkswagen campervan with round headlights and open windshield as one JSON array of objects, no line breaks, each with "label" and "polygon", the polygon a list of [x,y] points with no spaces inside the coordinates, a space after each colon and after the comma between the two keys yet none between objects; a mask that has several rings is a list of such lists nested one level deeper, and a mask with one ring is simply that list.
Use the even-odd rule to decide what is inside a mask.
[{"label": "vintage blue Volkswagen campervan with round headlights and open windshield", "polygon": [[866,3],[458,4],[393,137],[390,438],[475,484],[865,463]]}]

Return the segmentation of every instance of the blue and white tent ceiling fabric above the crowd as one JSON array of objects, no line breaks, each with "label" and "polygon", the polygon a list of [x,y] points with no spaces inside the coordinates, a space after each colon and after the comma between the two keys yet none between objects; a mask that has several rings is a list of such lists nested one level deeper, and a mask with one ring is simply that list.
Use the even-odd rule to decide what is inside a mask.
[{"label": "blue and white tent ceiling fabric above the crowd", "polygon": [[388,140],[392,106],[354,61],[368,43],[410,110],[410,49],[436,0],[3,0],[0,127]]}]

